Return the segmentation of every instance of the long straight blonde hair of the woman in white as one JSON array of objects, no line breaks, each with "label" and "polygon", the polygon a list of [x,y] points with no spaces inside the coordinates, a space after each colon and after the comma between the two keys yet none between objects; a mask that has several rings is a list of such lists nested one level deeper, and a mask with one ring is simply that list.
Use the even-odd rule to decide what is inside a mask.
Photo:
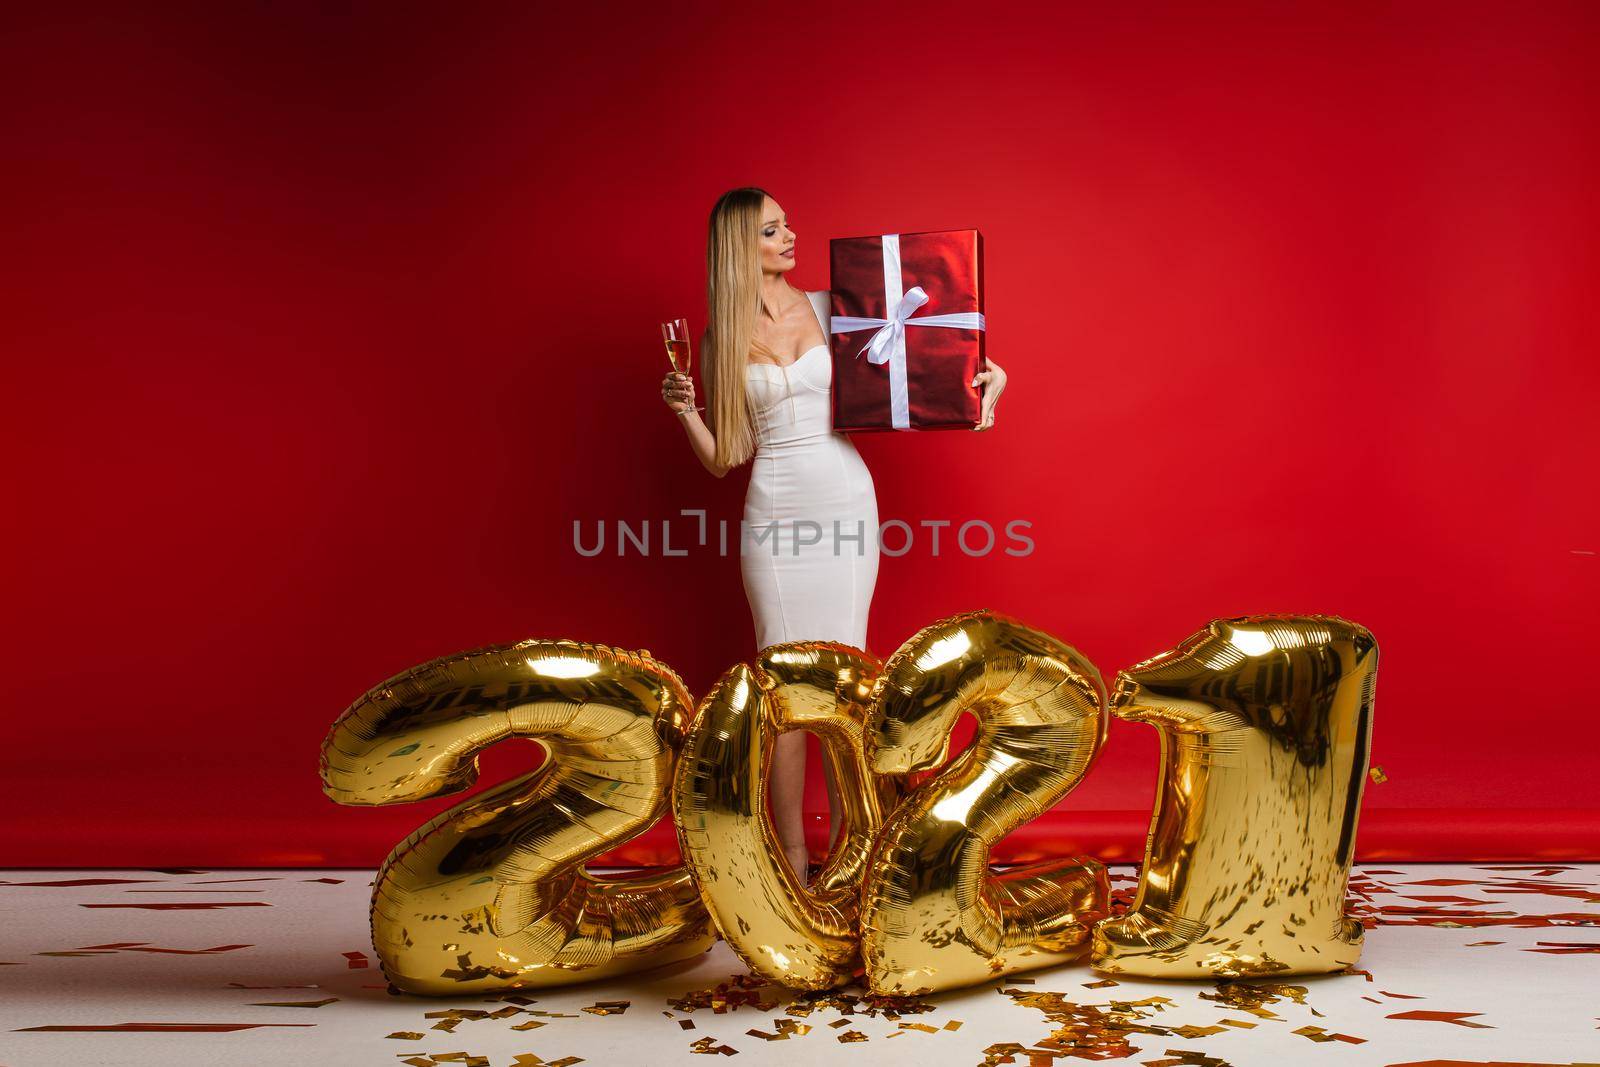
[{"label": "long straight blonde hair of the woman in white", "polygon": [[730,189],[710,210],[706,232],[707,326],[701,339],[701,366],[720,467],[738,467],[755,453],[755,413],[744,389],[744,368],[750,352],[771,355],[755,339],[755,317],[762,309],[758,235],[765,202],[765,189]]}]

